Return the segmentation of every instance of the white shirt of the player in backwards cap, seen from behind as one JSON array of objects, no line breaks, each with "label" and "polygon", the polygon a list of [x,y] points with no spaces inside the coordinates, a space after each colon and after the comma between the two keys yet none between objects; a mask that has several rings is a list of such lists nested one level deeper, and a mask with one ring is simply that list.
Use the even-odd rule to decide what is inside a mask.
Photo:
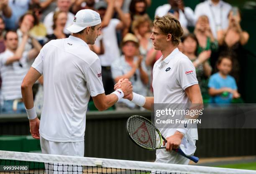
[{"label": "white shirt of the player in backwards cap, seen from behind", "polygon": [[104,93],[100,59],[82,39],[47,43],[33,68],[44,75],[40,136],[49,141],[84,141],[85,113],[92,97]]}]

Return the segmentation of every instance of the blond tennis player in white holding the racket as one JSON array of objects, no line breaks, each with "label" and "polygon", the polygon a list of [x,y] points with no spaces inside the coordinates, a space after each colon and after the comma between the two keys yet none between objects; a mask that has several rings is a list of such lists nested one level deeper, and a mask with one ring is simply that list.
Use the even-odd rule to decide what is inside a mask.
[{"label": "blond tennis player in white holding the racket", "polygon": [[[182,34],[183,30],[179,20],[171,15],[156,16],[150,38],[153,41],[154,49],[160,50],[162,56],[153,67],[154,97],[144,97],[133,92],[126,97],[127,99],[148,110],[151,110],[151,105],[154,103],[202,103],[195,67],[189,58],[177,48]],[[118,83],[120,82],[121,80]],[[118,87],[120,85],[116,84],[115,89]],[[186,134],[195,143],[195,140],[198,139],[197,129],[159,128],[159,130],[166,137],[167,143],[166,151],[156,151],[156,162],[188,164],[189,159],[173,152],[172,148],[178,148]]]}]

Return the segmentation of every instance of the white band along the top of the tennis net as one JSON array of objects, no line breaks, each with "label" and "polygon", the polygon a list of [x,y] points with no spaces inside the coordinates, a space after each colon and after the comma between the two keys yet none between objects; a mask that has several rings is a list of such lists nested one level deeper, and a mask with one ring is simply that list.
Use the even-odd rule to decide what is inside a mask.
[{"label": "white band along the top of the tennis net", "polygon": [[0,159],[19,160],[19,161],[36,161],[44,163],[62,163],[82,166],[97,166],[101,164],[102,167],[117,168],[117,169],[133,169],[143,171],[167,171],[180,172],[189,174],[256,174],[253,170],[242,169],[225,169],[216,167],[180,165],[180,164],[162,164],[144,161],[128,161],[117,159],[100,159],[90,157],[77,156],[61,156],[49,154],[35,154],[25,152],[0,151]]}]

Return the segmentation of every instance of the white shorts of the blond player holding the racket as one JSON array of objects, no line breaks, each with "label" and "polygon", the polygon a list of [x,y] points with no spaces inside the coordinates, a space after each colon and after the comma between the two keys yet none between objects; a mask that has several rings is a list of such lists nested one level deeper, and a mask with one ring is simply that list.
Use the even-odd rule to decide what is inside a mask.
[{"label": "white shorts of the blond player holding the racket", "polygon": [[[195,140],[194,140],[195,143]],[[166,151],[165,149],[156,150],[156,161],[157,163],[168,163],[168,164],[189,164],[189,159],[181,156],[174,151]]]}]

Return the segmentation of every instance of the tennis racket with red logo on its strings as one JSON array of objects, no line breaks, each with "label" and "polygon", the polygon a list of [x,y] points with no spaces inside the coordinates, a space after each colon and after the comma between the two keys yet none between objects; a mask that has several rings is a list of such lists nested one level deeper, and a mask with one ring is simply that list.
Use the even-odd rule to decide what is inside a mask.
[{"label": "tennis racket with red logo on its strings", "polygon": [[[161,135],[156,126],[148,119],[139,115],[133,115],[128,118],[126,122],[126,132],[135,144],[150,151],[165,148],[161,147],[161,145],[163,141],[167,143],[167,140]],[[199,161],[198,157],[187,156],[180,148],[172,150],[195,163]]]}]

